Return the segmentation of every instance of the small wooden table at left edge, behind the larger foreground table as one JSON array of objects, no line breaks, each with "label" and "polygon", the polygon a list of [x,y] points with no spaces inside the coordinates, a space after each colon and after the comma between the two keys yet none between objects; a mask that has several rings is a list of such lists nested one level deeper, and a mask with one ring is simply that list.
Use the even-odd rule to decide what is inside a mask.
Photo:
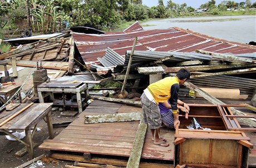
[{"label": "small wooden table at left edge, behind the larger foreground table", "polygon": [[[21,85],[3,85],[0,88],[0,95],[3,95],[4,98],[0,96],[0,100],[3,103],[6,103],[8,101],[8,96],[10,96],[10,97],[13,96],[13,94],[17,92],[19,87],[21,87]],[[19,102],[21,102],[20,92],[18,92],[18,98],[19,98]]]}]

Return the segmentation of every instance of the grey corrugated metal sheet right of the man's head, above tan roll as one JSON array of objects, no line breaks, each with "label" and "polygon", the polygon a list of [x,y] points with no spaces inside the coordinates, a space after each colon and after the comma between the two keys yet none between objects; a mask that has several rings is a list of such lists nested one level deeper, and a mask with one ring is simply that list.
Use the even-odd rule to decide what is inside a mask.
[{"label": "grey corrugated metal sheet right of the man's head, above tan roll", "polygon": [[189,81],[198,87],[239,88],[240,94],[248,95],[248,98],[252,98],[256,88],[256,80],[225,75],[191,78]]}]

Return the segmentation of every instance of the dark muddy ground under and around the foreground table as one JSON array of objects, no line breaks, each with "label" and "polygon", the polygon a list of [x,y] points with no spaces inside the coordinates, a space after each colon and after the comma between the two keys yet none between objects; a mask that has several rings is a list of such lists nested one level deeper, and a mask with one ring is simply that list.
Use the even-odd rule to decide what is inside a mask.
[{"label": "dark muddy ground under and around the foreground table", "polygon": [[[59,122],[65,122],[65,121],[73,121],[75,120],[76,117],[66,117],[66,116],[61,116],[60,111],[52,111],[51,112],[52,116],[52,122],[53,123],[59,123]],[[47,129],[47,124],[45,121],[40,121],[37,125],[41,131],[36,131],[35,135],[33,137],[33,142],[36,142],[37,144],[42,144],[42,142],[46,139],[48,139],[48,129]],[[65,127],[58,127],[58,128],[53,128],[54,135],[60,134],[60,132],[65,129]],[[23,139],[24,140],[24,139]],[[6,136],[0,136],[0,167],[1,168],[10,168],[10,167],[16,167],[20,166],[26,162],[28,162],[29,156],[28,154],[22,156],[22,157],[17,157],[14,154],[21,150],[24,147],[23,144],[21,144],[18,141],[9,141]],[[38,157],[42,154],[47,154],[47,151],[43,151],[41,149],[38,149],[38,146],[34,149],[34,154],[35,157]],[[53,165],[52,163],[46,163],[43,161],[38,161],[35,162],[34,164],[31,164],[27,167],[65,167],[65,165],[72,165],[73,162],[71,161],[62,161],[58,160],[57,165]]]}]

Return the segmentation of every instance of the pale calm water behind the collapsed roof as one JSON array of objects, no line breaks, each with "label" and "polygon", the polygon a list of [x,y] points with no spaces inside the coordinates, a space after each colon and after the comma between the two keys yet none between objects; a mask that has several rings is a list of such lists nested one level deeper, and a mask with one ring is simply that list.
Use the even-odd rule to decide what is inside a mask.
[{"label": "pale calm water behind the collapsed roof", "polygon": [[[228,41],[240,43],[256,42],[256,16],[168,18],[140,24],[145,30],[180,27]],[[154,26],[143,26],[144,24]]]}]

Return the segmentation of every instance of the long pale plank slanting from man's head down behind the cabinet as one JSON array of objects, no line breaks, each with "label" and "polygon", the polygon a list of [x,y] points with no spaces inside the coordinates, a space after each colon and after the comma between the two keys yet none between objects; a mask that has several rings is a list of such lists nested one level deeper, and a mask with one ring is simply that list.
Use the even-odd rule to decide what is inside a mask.
[{"label": "long pale plank slanting from man's head down behind the cabinet", "polygon": [[[208,100],[209,102],[213,103],[214,105],[225,105],[224,102],[220,101],[219,99],[209,95],[208,93],[206,93],[205,91],[201,90],[199,87],[195,86],[193,83],[191,82],[188,82],[186,81],[184,83],[184,85],[188,88],[190,88],[191,90],[194,90],[196,92],[199,93],[199,95],[201,95],[202,97],[204,97],[206,100]],[[232,112],[235,114],[235,115],[244,115],[245,116],[245,113],[241,112],[241,111],[238,111],[236,110],[235,108],[233,107],[230,107],[230,109],[232,110]],[[247,123],[249,126],[252,126],[252,127],[256,127],[256,120],[254,118],[240,118],[240,120],[242,120],[243,122]]]}]

